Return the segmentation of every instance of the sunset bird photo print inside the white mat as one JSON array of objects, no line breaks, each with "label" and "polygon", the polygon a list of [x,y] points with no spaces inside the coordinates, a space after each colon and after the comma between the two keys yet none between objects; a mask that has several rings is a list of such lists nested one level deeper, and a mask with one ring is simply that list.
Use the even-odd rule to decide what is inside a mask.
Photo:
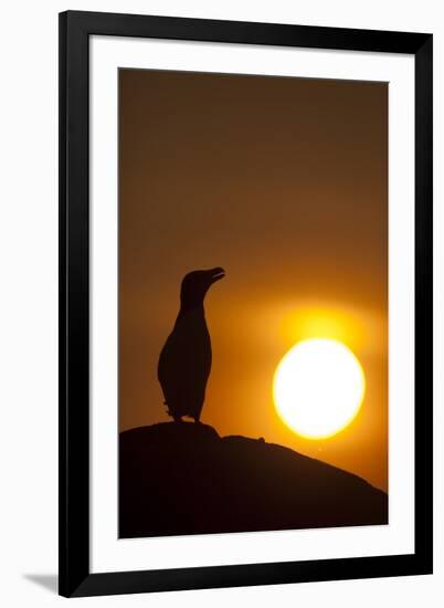
[{"label": "sunset bird photo print inside the white mat", "polygon": [[119,537],[388,524],[388,83],[118,87]]}]

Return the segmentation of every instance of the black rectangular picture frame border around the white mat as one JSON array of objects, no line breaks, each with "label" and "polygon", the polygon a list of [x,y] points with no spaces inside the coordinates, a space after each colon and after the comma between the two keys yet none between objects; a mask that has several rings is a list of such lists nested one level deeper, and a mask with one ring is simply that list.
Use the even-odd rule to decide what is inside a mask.
[{"label": "black rectangular picture frame border around the white mat", "polygon": [[[92,35],[382,53],[415,62],[415,551],[378,557],[92,574],[89,53]],[[66,597],[432,573],[432,34],[67,11],[60,14],[60,594]]]}]

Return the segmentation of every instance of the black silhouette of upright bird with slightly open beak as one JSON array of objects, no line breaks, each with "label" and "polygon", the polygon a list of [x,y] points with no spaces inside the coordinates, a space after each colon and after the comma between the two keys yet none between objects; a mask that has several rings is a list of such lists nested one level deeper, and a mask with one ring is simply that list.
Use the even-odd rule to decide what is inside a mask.
[{"label": "black silhouette of upright bird with slightly open beak", "polygon": [[182,416],[200,421],[211,370],[211,339],[203,300],[211,285],[224,276],[225,271],[218,266],[197,270],[183,277],[179,314],[157,369],[165,405],[176,422],[182,421]]}]

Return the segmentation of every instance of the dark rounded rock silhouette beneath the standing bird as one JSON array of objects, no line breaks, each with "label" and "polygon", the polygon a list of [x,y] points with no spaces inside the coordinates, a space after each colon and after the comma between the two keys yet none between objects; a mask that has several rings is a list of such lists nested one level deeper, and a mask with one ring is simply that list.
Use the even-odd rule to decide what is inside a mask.
[{"label": "dark rounded rock silhouette beneath the standing bird", "polygon": [[166,422],[119,443],[121,538],[388,523],[384,492],[262,438]]}]

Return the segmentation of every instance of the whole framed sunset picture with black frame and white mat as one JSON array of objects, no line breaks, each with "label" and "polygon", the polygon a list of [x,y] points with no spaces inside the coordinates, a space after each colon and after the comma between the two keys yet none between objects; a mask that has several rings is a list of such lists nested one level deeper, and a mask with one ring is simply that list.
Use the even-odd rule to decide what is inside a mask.
[{"label": "whole framed sunset picture with black frame and white mat", "polygon": [[60,15],[60,593],[432,572],[432,35]]}]

